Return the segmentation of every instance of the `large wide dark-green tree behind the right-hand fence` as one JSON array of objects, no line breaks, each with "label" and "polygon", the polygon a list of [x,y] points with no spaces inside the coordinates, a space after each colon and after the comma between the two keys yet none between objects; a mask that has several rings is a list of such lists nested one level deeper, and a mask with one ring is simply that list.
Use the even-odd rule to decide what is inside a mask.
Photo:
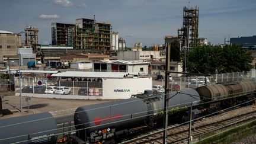
[{"label": "large wide dark-green tree behind the right-hand fence", "polygon": [[207,74],[214,74],[215,69],[219,73],[249,71],[252,59],[251,53],[241,46],[200,45],[187,50],[186,69],[191,73]]}]

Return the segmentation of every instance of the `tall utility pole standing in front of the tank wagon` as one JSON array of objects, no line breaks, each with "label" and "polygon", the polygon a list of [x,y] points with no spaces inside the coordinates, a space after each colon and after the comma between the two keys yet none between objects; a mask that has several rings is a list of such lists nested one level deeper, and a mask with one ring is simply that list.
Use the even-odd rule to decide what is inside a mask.
[{"label": "tall utility pole standing in front of the tank wagon", "polygon": [[164,135],[163,143],[167,143],[167,126],[168,126],[168,103],[169,103],[169,66],[171,57],[171,43],[167,43],[165,58],[165,95],[164,95]]}]

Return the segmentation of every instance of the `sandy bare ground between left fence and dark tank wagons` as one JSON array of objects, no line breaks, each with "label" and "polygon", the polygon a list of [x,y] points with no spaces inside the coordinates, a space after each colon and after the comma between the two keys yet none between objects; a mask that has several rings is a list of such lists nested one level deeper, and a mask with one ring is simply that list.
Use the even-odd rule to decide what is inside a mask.
[{"label": "sandy bare ground between left fence and dark tank wagons", "polygon": [[[114,100],[66,100],[56,98],[35,98],[31,97],[29,102],[29,113],[42,113],[46,111],[63,111],[63,110],[74,110],[75,108],[82,105],[91,105],[98,103],[105,103]],[[20,108],[20,97],[8,96],[2,98],[2,109],[3,116],[0,119],[8,117],[22,116],[28,114],[28,103],[25,101],[25,97],[22,98],[23,113]]]}]

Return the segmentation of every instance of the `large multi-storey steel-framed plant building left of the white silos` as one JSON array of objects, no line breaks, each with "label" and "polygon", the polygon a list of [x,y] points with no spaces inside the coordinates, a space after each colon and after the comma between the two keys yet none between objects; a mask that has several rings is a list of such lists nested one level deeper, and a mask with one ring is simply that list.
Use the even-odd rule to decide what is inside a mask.
[{"label": "large multi-storey steel-framed plant building left of the white silos", "polygon": [[52,44],[110,54],[111,24],[78,18],[76,24],[52,23]]}]

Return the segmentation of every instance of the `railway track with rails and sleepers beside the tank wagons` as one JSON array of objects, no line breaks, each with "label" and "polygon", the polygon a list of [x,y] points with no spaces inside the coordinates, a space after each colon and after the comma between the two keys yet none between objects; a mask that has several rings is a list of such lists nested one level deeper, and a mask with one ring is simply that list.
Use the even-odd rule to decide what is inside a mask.
[{"label": "railway track with rails and sleepers beside the tank wagons", "polygon": [[[235,110],[226,111],[212,117],[197,120],[194,126],[191,127],[191,136],[193,141],[199,140],[202,137],[213,135],[222,132],[241,123],[246,123],[250,120],[256,120],[256,105],[241,107]],[[168,143],[187,143],[188,142],[188,124],[176,124],[168,126],[167,142]],[[123,143],[162,143],[163,129],[158,129],[153,132],[144,134],[132,140],[127,140]]]}]

